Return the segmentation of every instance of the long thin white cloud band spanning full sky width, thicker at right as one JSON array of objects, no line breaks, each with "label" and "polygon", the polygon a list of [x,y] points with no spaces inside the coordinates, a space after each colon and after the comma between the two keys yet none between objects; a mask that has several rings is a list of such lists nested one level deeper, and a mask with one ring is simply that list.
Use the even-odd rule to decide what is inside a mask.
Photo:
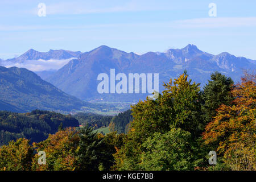
[{"label": "long thin white cloud band spanning full sky width, thicker at right", "polygon": [[198,18],[174,20],[170,22],[147,23],[116,23],[94,24],[88,26],[0,26],[1,31],[27,31],[27,30],[83,30],[88,28],[114,28],[114,27],[170,27],[170,28],[234,28],[256,27],[256,17],[224,17],[224,18]]}]

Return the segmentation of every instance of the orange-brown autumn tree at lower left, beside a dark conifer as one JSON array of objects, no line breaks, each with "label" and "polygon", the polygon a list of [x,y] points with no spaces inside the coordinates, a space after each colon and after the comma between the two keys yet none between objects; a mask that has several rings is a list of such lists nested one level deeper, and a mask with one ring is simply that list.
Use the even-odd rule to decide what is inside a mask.
[{"label": "orange-brown autumn tree at lower left, beside a dark conifer", "polygon": [[74,128],[58,131],[40,143],[33,143],[36,151],[46,152],[46,165],[39,165],[36,154],[32,162],[32,169],[44,170],[68,170],[76,168],[76,151],[79,144],[79,135]]}]

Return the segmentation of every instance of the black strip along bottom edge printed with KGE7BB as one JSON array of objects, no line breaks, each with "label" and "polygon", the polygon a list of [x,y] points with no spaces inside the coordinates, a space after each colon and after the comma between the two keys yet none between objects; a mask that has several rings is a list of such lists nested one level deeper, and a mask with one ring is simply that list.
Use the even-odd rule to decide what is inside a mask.
[{"label": "black strip along bottom edge printed with KGE7BB", "polygon": [[24,177],[26,179],[56,179],[82,181],[177,181],[212,180],[221,176],[236,179],[246,175],[255,177],[255,171],[1,171],[0,176]]}]

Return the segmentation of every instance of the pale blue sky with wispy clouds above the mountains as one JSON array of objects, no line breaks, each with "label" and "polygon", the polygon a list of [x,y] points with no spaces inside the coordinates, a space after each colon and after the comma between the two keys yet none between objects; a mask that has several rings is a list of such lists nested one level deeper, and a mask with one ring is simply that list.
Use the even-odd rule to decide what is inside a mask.
[{"label": "pale blue sky with wispy clouds above the mountains", "polygon": [[[246,3],[245,3],[246,2]],[[38,16],[38,5],[46,16]],[[208,5],[217,5],[210,17]],[[256,1],[0,1],[0,58],[28,49],[90,51],[101,45],[126,52],[164,52],[195,44],[214,55],[256,60]]]}]

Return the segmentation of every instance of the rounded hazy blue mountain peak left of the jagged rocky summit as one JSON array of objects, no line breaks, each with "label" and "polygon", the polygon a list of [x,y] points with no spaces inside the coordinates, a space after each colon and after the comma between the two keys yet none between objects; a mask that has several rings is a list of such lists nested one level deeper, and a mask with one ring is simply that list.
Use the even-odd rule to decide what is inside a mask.
[{"label": "rounded hazy blue mountain peak left of the jagged rocky summit", "polygon": [[79,59],[70,61],[47,78],[47,81],[82,100],[91,98],[97,92],[98,74],[109,73],[110,68],[114,68],[116,72],[122,72],[129,68],[131,61],[137,57],[135,53],[126,53],[101,46],[83,53]]}]

